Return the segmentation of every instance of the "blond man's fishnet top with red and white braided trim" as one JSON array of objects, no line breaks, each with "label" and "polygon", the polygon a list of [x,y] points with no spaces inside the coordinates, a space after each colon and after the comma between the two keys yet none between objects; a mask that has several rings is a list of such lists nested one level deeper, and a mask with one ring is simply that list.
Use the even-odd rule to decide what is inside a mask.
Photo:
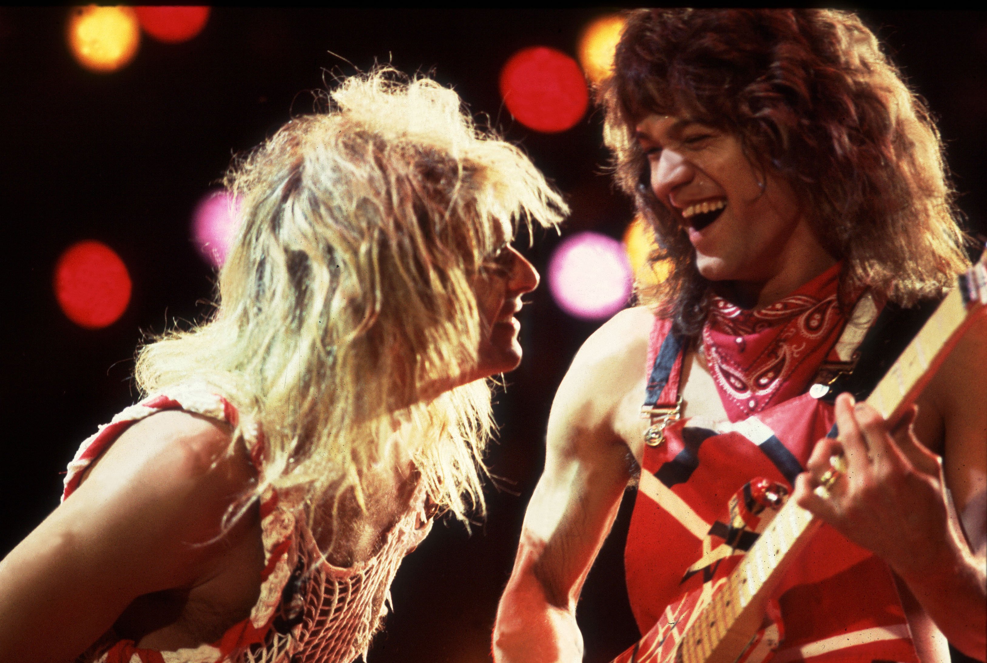
[{"label": "blond man's fishnet top with red and white braided trim", "polygon": [[[83,472],[135,422],[162,410],[185,410],[236,427],[239,415],[205,385],[188,384],[151,396],[117,414],[82,443],[68,465],[62,500]],[[260,468],[264,436],[245,426],[245,443]],[[178,651],[137,647],[106,633],[79,663],[349,663],[366,654],[390,603],[391,581],[406,554],[431,530],[425,490],[418,485],[412,508],[382,537],[377,553],[349,568],[333,566],[302,517],[297,495],[268,488],[261,496],[261,539],[266,566],[261,596],[250,617],[208,644]]]}]

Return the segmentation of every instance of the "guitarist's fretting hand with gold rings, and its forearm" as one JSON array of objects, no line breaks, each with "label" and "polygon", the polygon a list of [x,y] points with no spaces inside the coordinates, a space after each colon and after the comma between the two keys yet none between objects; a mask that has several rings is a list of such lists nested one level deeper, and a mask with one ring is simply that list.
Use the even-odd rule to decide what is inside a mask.
[{"label": "guitarist's fretting hand with gold rings, and its forearm", "polygon": [[[967,468],[951,461],[944,464],[920,442],[914,427],[917,414],[918,407],[911,406],[892,428],[872,406],[841,395],[836,401],[839,440],[826,438],[816,445],[808,471],[797,479],[793,499],[883,558],[949,641],[983,660],[987,591],[982,474],[979,487],[975,482],[949,482],[966,488],[957,496],[964,536],[947,473],[951,469],[956,476]],[[979,414],[983,416],[982,409]],[[962,444],[949,445],[949,429],[947,436],[945,446],[961,453]],[[976,440],[966,444],[972,442]],[[979,442],[982,455],[983,432]],[[830,456],[837,453],[845,457],[846,473],[824,498],[815,491],[816,477],[825,473]]]}]

